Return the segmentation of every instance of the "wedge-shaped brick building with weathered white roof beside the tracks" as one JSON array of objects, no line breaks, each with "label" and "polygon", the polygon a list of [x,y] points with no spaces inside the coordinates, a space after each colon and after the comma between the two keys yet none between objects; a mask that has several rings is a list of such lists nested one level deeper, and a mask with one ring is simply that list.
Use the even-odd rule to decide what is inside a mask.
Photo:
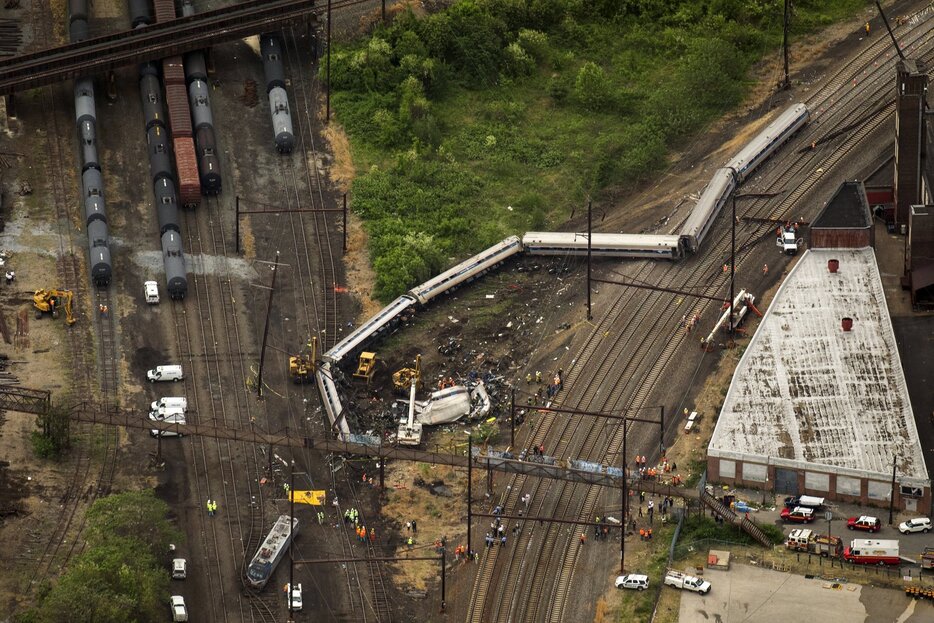
[{"label": "wedge-shaped brick building with weathered white roof beside the tracks", "polygon": [[[814,220],[811,248],[736,369],[708,480],[927,512],[931,483],[872,243],[862,184]],[[893,488],[894,468],[894,488]]]}]

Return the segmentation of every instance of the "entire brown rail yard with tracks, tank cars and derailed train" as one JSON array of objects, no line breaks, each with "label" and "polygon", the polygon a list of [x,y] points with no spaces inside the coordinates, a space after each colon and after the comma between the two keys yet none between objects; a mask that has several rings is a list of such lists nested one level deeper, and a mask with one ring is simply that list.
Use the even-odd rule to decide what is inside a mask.
[{"label": "entire brown rail yard with tracks, tank cars and derailed train", "polygon": [[[767,541],[758,525],[771,519],[750,521],[717,502],[715,489],[679,482],[681,473],[703,469],[684,446],[703,458],[707,443],[683,434],[685,416],[699,402],[723,403],[702,395],[704,379],[734,339],[722,330],[712,341],[703,337],[732,311],[723,302],[732,300],[733,273],[737,292],[755,292],[756,305],[774,296],[796,261],[776,251],[776,223],[812,221],[840,182],[867,176],[894,150],[891,39],[831,46],[790,89],[752,104],[727,140],[710,141],[719,149],[695,146],[673,168],[680,188],[669,191],[678,201],[667,205],[667,218],[643,207],[657,199],[654,189],[628,197],[635,207],[608,208],[601,229],[614,233],[596,234],[590,245],[599,280],[591,285],[592,318],[581,216],[560,228],[567,233],[515,232],[381,308],[364,300],[345,264],[349,232],[340,206],[348,188],[330,169],[338,155],[325,140],[318,64],[324,9],[280,1],[281,11],[306,14],[283,24],[259,15],[263,3],[239,5],[242,13],[228,4],[156,0],[151,12],[136,0],[90,10],[79,0],[35,0],[18,9],[34,28],[21,50],[27,60],[68,40],[64,54],[80,52],[76,45],[92,49],[98,37],[127,47],[115,48],[122,58],[96,65],[93,79],[80,77],[80,64],[51,56],[33,59],[36,75],[62,73],[20,77],[29,90],[0,76],[0,90],[15,91],[16,102],[14,111],[8,100],[3,116],[4,141],[28,154],[0,171],[0,247],[16,270],[0,304],[4,337],[7,325],[16,326],[15,339],[6,340],[16,364],[10,385],[51,390],[54,403],[84,414],[72,424],[66,458],[27,472],[20,468],[35,462],[33,419],[0,413],[0,458],[16,475],[10,490],[20,490],[11,496],[15,512],[0,523],[12,552],[0,560],[15,570],[0,582],[0,603],[15,615],[46,590],[84,548],[88,507],[125,489],[155,489],[184,532],[187,573],[173,594],[184,596],[187,610],[175,620],[596,620],[618,599],[612,587],[624,565],[621,548],[646,547],[621,509],[640,489],[655,504],[706,505]],[[333,8],[330,26],[344,32],[380,12],[373,2]],[[909,8],[895,28],[899,45],[934,68],[934,8]],[[206,59],[192,58],[204,41],[191,37],[204,35],[186,24],[222,28],[212,24],[224,24],[225,13],[237,16],[237,28],[253,19],[257,29],[214,45]],[[133,29],[145,37],[149,27],[179,34],[155,49],[127,43]],[[15,60],[0,60],[0,69]],[[42,64],[49,62],[60,68]],[[179,131],[189,103],[194,123]],[[178,156],[178,137],[190,157]],[[31,194],[10,196],[24,184]],[[365,254],[359,244],[352,239],[351,252]],[[144,296],[149,280],[161,299]],[[33,291],[41,288],[73,293],[73,326],[48,315],[30,321]],[[736,341],[744,348],[743,340]],[[290,370],[299,353],[314,372]],[[147,370],[169,364],[180,365],[183,378],[147,382]],[[405,382],[392,378],[401,368]],[[424,451],[422,461],[387,459],[403,445],[397,427],[416,413],[419,382],[419,397],[436,385],[438,396],[480,385],[484,392],[471,396],[487,402],[474,398],[469,421],[426,426],[426,437],[412,444]],[[147,416],[152,401],[169,395],[187,398],[176,421],[192,426],[176,427],[186,433],[180,437],[168,436],[170,422]],[[418,409],[427,413],[430,402]],[[94,411],[142,422],[86,423]],[[152,435],[147,417],[159,427]],[[709,426],[715,414],[702,418]],[[247,432],[268,445],[244,441]],[[464,433],[471,432],[494,441],[468,456]],[[324,439],[370,451],[316,449]],[[672,446],[686,458],[669,473]],[[410,452],[397,456],[417,451]],[[638,456],[662,470],[651,484],[626,477]],[[494,459],[529,466],[492,471]],[[540,477],[535,462],[568,473]],[[587,474],[616,480],[587,484]],[[308,505],[296,495],[292,505],[296,491],[323,498]],[[635,526],[635,506],[630,511]],[[648,527],[641,504],[638,512],[638,527]],[[490,546],[488,536],[484,547],[491,520],[497,540]],[[291,569],[285,549],[297,561]],[[716,577],[707,578],[713,597]],[[648,580],[655,605],[662,580]],[[293,587],[301,612],[288,612]],[[705,599],[707,607],[711,598],[681,600]]]}]

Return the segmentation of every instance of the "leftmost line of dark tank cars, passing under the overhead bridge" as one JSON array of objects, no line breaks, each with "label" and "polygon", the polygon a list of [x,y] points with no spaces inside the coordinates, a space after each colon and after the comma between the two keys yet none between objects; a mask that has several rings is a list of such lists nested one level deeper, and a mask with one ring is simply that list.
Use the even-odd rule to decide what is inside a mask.
[{"label": "leftmost line of dark tank cars, passing under the overhead bridge", "polygon": [[[88,38],[87,0],[69,0],[68,35],[72,42]],[[81,192],[91,281],[97,286],[106,286],[113,277],[113,263],[104,204],[104,177],[97,154],[97,108],[91,78],[75,80],[75,123],[81,151]]]}]

